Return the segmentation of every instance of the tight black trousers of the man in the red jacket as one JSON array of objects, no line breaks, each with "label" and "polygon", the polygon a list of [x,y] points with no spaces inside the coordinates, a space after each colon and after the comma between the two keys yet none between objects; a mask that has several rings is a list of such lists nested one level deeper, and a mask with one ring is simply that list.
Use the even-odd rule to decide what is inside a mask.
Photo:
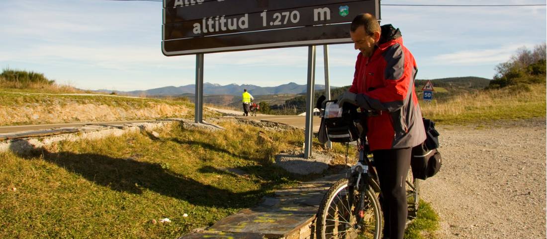
[{"label": "tight black trousers of the man in the red jacket", "polygon": [[411,153],[412,148],[373,151],[382,191],[383,238],[403,239],[408,214],[405,181]]}]

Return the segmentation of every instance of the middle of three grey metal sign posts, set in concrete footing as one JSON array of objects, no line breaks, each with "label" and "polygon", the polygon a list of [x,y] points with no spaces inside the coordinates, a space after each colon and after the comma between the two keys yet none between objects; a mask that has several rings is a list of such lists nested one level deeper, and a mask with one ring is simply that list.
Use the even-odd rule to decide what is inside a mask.
[{"label": "middle of three grey metal sign posts, set in concrete footing", "polygon": [[308,81],[306,89],[306,138],[304,140],[304,159],[311,156],[313,137],[313,93],[315,89],[315,45],[308,46]]}]

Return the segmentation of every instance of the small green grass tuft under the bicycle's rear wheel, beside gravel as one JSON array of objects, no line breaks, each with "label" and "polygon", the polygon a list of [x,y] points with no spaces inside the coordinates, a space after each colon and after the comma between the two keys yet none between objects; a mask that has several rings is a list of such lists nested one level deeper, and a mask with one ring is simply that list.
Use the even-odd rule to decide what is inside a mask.
[{"label": "small green grass tuft under the bicycle's rear wheel, beside gravel", "polygon": [[439,228],[439,216],[431,205],[420,200],[416,219],[405,231],[405,239],[435,239],[434,231]]}]

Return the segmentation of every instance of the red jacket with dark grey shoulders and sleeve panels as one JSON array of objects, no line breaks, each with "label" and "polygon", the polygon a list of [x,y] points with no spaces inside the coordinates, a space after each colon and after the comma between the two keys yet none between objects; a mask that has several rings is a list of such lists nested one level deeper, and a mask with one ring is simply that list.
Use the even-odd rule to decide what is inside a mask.
[{"label": "red jacket with dark grey shoulders and sleeve panels", "polygon": [[366,133],[371,150],[414,147],[426,139],[414,90],[416,61],[398,28],[381,28],[373,55],[357,56],[350,91],[359,107],[372,112]]}]

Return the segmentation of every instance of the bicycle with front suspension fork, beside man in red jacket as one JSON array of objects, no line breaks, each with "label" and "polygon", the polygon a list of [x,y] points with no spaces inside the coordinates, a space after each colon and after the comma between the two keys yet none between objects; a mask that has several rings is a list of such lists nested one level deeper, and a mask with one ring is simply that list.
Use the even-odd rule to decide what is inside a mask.
[{"label": "bicycle with front suspension fork, beside man in red jacket", "polygon": [[[362,133],[362,132],[359,132]],[[346,143],[346,162],[349,144]],[[380,184],[374,167],[374,157],[364,137],[357,139],[358,160],[346,177],[334,183],[327,191],[316,220],[318,239],[380,239],[382,213]],[[406,178],[406,197],[409,202],[408,222],[416,217],[418,208],[418,179],[409,169]]]}]

